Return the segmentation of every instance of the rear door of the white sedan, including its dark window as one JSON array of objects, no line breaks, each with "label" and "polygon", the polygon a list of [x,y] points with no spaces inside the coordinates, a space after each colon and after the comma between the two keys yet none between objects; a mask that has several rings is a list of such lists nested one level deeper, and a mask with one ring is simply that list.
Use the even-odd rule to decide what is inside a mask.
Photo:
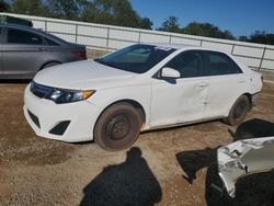
[{"label": "rear door of the white sedan, including its dark window", "polygon": [[208,95],[205,116],[227,115],[236,100],[247,91],[248,79],[240,67],[226,54],[205,53],[205,76],[208,80]]}]

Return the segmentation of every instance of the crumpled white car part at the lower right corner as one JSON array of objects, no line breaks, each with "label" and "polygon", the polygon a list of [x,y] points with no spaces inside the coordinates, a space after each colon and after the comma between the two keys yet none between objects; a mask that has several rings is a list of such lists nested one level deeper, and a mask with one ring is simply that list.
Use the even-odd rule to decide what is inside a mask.
[{"label": "crumpled white car part at the lower right corner", "polygon": [[222,183],[235,197],[236,182],[249,174],[274,169],[274,137],[244,139],[220,147],[218,170]]}]

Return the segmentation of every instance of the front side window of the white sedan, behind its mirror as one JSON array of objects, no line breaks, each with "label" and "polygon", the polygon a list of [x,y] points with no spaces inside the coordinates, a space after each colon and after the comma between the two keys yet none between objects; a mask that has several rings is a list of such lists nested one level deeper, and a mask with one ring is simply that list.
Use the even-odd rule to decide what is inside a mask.
[{"label": "front side window of the white sedan, behind its mirror", "polygon": [[178,70],[182,78],[201,77],[203,71],[203,53],[199,50],[184,52],[171,59],[165,67]]}]

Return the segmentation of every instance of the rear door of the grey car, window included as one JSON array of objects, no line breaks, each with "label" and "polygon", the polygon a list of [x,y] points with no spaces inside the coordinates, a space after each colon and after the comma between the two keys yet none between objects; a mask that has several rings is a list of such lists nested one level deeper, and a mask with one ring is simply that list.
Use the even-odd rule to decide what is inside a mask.
[{"label": "rear door of the grey car, window included", "polygon": [[38,34],[8,27],[2,45],[4,75],[14,78],[32,77],[44,61],[43,37]]}]

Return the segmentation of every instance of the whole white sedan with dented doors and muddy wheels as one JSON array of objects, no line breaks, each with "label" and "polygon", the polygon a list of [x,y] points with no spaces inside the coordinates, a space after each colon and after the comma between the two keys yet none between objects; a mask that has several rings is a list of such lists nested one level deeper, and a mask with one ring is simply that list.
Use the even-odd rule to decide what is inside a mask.
[{"label": "whole white sedan with dented doors and muddy wheels", "polygon": [[261,89],[261,75],[222,52],[137,44],[39,71],[25,89],[24,115],[38,136],[94,139],[113,151],[140,130],[218,118],[238,125]]}]

